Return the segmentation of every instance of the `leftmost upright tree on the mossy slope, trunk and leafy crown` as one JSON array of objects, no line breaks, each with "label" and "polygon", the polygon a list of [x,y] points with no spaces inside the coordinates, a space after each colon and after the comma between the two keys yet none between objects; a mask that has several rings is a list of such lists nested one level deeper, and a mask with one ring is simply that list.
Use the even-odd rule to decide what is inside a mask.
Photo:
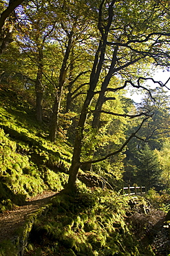
[{"label": "leftmost upright tree on the mossy slope, trunk and leafy crown", "polygon": [[[47,15],[48,14],[48,15]],[[30,57],[30,61],[36,66],[36,77],[34,78],[36,93],[36,120],[43,120],[43,91],[45,90],[43,76],[45,56],[44,51],[47,42],[54,36],[56,17],[54,11],[44,1],[32,1],[23,7],[22,14],[19,14],[20,26],[18,28],[18,43],[21,51]],[[34,31],[34,33],[32,33]]]}]

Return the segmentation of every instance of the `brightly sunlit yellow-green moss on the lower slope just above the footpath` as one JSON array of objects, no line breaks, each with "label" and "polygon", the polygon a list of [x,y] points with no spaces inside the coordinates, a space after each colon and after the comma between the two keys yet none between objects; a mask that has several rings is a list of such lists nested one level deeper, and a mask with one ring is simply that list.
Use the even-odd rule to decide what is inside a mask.
[{"label": "brightly sunlit yellow-green moss on the lower slope just above the footpath", "polygon": [[[7,111],[5,113],[2,111],[0,114],[1,122],[5,122],[5,116],[8,116],[10,122],[3,124],[3,129],[0,129],[1,211],[10,209],[7,204],[1,204],[3,200],[10,199],[12,203],[21,205],[27,196],[41,194],[49,188],[59,191],[67,182],[66,174],[56,174],[49,168],[44,172],[40,168],[49,161],[49,151],[51,160],[56,159],[54,164],[59,162],[60,154],[56,152],[56,147],[50,149],[50,143],[34,136],[26,129],[27,126],[23,128],[16,125],[16,119],[12,119]],[[36,157],[32,158],[33,155]]]}]

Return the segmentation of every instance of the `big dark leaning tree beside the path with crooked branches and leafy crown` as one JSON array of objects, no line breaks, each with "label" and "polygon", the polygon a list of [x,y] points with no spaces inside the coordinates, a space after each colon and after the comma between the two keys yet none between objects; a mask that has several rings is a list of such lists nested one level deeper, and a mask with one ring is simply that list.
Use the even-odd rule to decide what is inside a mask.
[{"label": "big dark leaning tree beside the path with crooked branches and leafy crown", "polygon": [[[75,185],[79,167],[81,167],[83,164],[87,164],[87,162],[81,163],[81,150],[83,131],[85,129],[89,107],[92,103],[94,95],[96,95],[96,93],[99,95],[98,104],[96,104],[96,113],[101,113],[103,112],[101,111],[101,107],[103,106],[103,102],[105,102],[105,100],[103,100],[105,92],[115,92],[124,89],[127,84],[131,84],[132,86],[136,86],[138,88],[140,87],[140,78],[138,77],[138,74],[136,75],[136,80],[138,82],[137,85],[135,85],[135,83],[131,80],[125,80],[127,68],[129,69],[129,66],[137,62],[139,65],[142,62],[148,62],[149,60],[152,60],[152,62],[155,64],[160,64],[160,60],[162,60],[162,58],[164,58],[164,65],[169,61],[169,51],[164,45],[164,42],[166,42],[166,45],[169,44],[169,33],[166,32],[165,28],[165,30],[162,30],[162,27],[158,24],[160,22],[160,20],[158,21],[158,17],[160,13],[163,14],[164,11],[159,3],[156,4],[155,2],[153,3],[153,1],[151,1],[149,6],[147,6],[147,8],[149,7],[148,12],[146,4],[146,1],[142,1],[141,6],[138,6],[136,1],[132,1],[131,10],[129,10],[129,13],[127,12],[129,3],[127,6],[126,2],[116,3],[116,1],[109,1],[106,3],[104,0],[100,2],[100,6],[98,8],[98,32],[100,33],[100,39],[96,49],[96,55],[94,57],[93,68],[89,76],[89,89],[83,103],[78,121],[78,127],[76,129],[74,153],[67,186],[68,190],[72,189]],[[123,15],[120,15],[120,10],[123,11]],[[136,16],[138,10],[142,12],[141,19],[139,20]],[[126,17],[125,22],[122,20],[123,16],[124,18]],[[144,19],[147,21],[146,26]],[[163,19],[166,21],[167,14],[163,15]],[[155,24],[153,23],[153,20],[156,21]],[[121,25],[122,22],[124,26]],[[164,45],[163,47],[165,51],[162,51],[160,44],[162,46]],[[111,46],[111,48],[109,48],[109,46]],[[106,55],[108,48],[112,53],[112,57],[107,62]],[[105,66],[107,66],[107,68],[105,68]],[[106,71],[106,75],[103,76],[103,82],[101,82],[100,79],[102,78],[103,69]],[[121,72],[121,75],[124,77],[123,85],[116,89],[108,88],[108,85],[111,82],[111,77],[116,75],[118,72]],[[107,113],[109,113],[109,111],[107,111]],[[115,115],[115,113],[111,114]],[[97,117],[97,119],[99,118]],[[89,161],[89,163],[103,161],[107,157],[120,152],[123,150],[125,145],[127,145],[129,140],[136,136],[137,131],[131,134],[123,146],[120,147],[120,149],[118,149],[116,152],[105,156],[105,158],[100,158],[96,161]]]}]

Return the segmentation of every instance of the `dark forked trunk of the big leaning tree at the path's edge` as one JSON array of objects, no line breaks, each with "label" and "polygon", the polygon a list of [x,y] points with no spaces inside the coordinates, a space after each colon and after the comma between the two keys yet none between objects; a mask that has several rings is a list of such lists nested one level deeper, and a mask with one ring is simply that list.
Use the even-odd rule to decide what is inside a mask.
[{"label": "dark forked trunk of the big leaning tree at the path's edge", "polygon": [[83,131],[85,127],[85,122],[87,119],[87,114],[89,111],[89,107],[91,105],[92,99],[94,97],[94,91],[96,89],[96,86],[98,84],[98,80],[100,77],[100,73],[103,68],[103,63],[105,60],[105,51],[107,46],[107,35],[109,33],[109,28],[111,26],[111,21],[113,17],[113,6],[115,3],[114,1],[111,1],[111,4],[109,6],[109,17],[107,26],[105,26],[105,30],[103,28],[103,5],[105,1],[102,1],[100,3],[100,9],[99,9],[99,17],[98,17],[98,30],[100,30],[101,33],[101,39],[98,44],[98,49],[96,51],[96,55],[94,57],[94,64],[92,67],[92,72],[90,74],[89,78],[89,89],[87,91],[87,96],[85,99],[85,102],[83,104],[83,108],[81,110],[81,115],[78,121],[78,127],[76,129],[76,139],[74,142],[74,152],[72,156],[72,165],[70,167],[70,176],[68,180],[67,187],[65,188],[65,192],[69,192],[75,188],[76,185],[76,178],[78,175],[79,167],[81,166],[81,149],[82,149],[82,143],[83,143]]}]

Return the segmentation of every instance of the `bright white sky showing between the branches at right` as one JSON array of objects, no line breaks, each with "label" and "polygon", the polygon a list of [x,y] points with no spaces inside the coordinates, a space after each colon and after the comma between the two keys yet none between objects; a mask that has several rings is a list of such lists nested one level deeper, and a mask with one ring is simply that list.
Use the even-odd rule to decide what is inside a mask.
[{"label": "bright white sky showing between the branches at right", "polygon": [[[162,83],[167,82],[169,77],[170,77],[170,71],[162,71],[162,70],[156,71],[156,73],[153,74],[153,76],[152,76],[153,80],[161,81]],[[151,86],[151,88],[153,88],[153,89],[156,88],[157,86],[159,86],[159,84],[155,84],[151,81],[150,82],[147,81],[147,84],[149,84]],[[164,87],[164,91],[167,91],[167,93],[170,95],[170,80],[166,84],[166,86],[169,88],[169,90]],[[134,100],[134,102],[139,103],[142,98],[142,93],[139,93],[139,91],[137,93],[137,91],[138,91],[138,89],[136,89],[136,93],[134,92],[133,95],[131,95],[131,93],[127,93],[126,96],[131,98],[132,100]]]}]

